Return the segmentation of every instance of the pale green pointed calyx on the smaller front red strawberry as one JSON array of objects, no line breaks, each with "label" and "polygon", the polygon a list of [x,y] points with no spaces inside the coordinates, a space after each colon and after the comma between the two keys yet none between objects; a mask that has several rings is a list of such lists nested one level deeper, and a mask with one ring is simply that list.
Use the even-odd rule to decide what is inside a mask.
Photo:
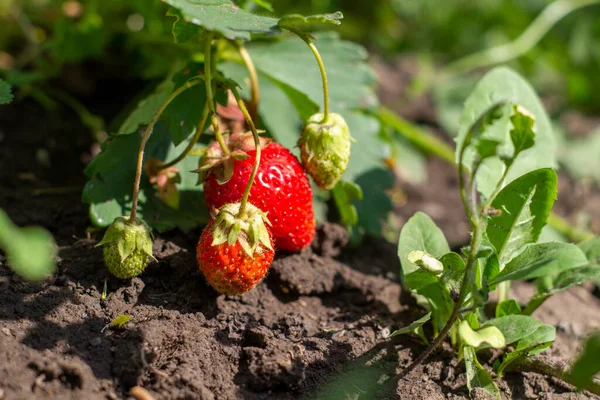
[{"label": "pale green pointed calyx on the smaller front red strawberry", "polygon": [[269,228],[271,222],[258,207],[247,203],[244,216],[240,216],[241,203],[229,203],[217,210],[212,225],[212,246],[225,242],[230,246],[236,241],[249,257],[273,250]]}]

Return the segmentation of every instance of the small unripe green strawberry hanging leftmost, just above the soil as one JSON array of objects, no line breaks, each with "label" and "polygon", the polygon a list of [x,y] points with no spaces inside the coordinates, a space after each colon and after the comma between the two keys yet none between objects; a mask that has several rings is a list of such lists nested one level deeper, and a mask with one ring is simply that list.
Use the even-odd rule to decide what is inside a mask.
[{"label": "small unripe green strawberry hanging leftmost, just above the soil", "polygon": [[143,220],[132,223],[127,217],[117,217],[98,246],[104,246],[104,263],[111,274],[120,279],[133,278],[142,273],[152,257],[152,229]]}]

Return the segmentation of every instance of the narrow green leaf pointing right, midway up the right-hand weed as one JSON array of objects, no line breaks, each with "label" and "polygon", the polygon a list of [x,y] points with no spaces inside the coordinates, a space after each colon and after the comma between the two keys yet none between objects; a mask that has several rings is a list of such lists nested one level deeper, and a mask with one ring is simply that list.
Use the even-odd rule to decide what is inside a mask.
[{"label": "narrow green leaf pointing right, midway up the right-hand weed", "polygon": [[587,264],[583,251],[570,243],[535,243],[513,258],[493,283],[551,276]]}]

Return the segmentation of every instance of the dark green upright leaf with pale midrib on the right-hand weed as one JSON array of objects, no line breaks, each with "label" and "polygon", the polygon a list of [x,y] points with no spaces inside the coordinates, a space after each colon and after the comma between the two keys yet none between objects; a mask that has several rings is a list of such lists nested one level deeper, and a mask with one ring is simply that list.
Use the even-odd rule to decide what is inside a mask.
[{"label": "dark green upright leaf with pale midrib on the right-hand weed", "polygon": [[557,195],[556,173],[531,171],[504,187],[492,201],[499,215],[490,217],[487,236],[504,265],[526,244],[536,242]]}]

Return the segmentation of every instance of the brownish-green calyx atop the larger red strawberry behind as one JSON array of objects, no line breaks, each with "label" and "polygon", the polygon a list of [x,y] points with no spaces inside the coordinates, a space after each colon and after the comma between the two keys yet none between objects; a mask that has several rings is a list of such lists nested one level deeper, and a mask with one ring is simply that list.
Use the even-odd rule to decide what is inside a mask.
[{"label": "brownish-green calyx atop the larger red strawberry behind", "polygon": [[[200,159],[198,169],[192,171],[200,174],[200,182],[204,182],[206,176],[212,172],[219,184],[227,183],[233,176],[233,162],[245,160],[249,157],[248,151],[256,149],[252,132],[224,135],[223,140],[225,146],[229,149],[229,154],[225,154],[219,143],[214,141],[208,146],[206,153]],[[270,142],[271,139],[261,137],[261,148],[265,148]]]}]

